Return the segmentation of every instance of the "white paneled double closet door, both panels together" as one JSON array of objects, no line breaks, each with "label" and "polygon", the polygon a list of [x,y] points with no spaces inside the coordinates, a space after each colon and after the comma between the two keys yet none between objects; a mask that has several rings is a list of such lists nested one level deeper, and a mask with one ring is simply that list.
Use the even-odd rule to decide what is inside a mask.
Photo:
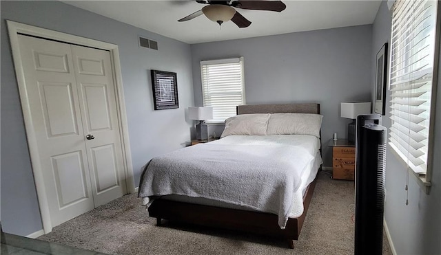
[{"label": "white paneled double closet door, both panels together", "polygon": [[110,52],[23,35],[19,47],[39,151],[32,161],[56,226],[126,194]]}]

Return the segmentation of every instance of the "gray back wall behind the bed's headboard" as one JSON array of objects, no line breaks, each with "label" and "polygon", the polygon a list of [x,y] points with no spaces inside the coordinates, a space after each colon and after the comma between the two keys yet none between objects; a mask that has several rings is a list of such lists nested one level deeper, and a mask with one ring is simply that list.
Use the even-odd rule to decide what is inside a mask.
[{"label": "gray back wall behind the bed's headboard", "polygon": [[[244,56],[247,104],[319,102],[324,166],[334,132],[347,137],[340,102],[371,100],[371,25],[192,45],[194,102],[201,106],[199,62]],[[216,134],[218,133],[216,126]]]}]

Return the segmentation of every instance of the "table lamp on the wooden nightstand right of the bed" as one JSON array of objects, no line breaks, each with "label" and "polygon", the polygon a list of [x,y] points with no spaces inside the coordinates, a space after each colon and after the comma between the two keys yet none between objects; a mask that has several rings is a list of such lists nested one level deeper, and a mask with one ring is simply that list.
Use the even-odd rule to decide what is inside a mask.
[{"label": "table lamp on the wooden nightstand right of the bed", "polygon": [[360,114],[371,113],[371,102],[342,102],[341,117],[352,119],[347,125],[347,141],[355,144],[356,142],[356,119]]}]

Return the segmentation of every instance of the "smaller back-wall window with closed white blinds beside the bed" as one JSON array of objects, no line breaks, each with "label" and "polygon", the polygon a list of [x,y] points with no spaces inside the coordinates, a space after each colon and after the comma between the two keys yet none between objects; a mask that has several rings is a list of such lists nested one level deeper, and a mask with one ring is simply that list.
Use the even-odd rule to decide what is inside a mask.
[{"label": "smaller back-wall window with closed white blinds beside the bed", "polygon": [[201,61],[203,106],[213,107],[213,120],[224,122],[245,104],[243,57]]}]

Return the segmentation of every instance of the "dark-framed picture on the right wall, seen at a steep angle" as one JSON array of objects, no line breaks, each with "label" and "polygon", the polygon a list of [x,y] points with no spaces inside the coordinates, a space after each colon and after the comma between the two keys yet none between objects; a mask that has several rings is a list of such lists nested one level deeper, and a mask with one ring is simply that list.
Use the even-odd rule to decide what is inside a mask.
[{"label": "dark-framed picture on the right wall, seen at a steep angle", "polygon": [[375,82],[374,112],[386,115],[387,43],[377,53]]}]

